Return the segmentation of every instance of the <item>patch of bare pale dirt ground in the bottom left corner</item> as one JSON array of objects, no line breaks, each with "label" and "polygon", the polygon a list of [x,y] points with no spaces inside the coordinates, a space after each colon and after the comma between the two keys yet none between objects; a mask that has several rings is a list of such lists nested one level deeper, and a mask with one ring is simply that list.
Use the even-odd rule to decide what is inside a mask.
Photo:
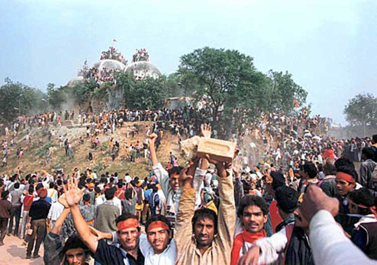
[{"label": "patch of bare pale dirt ground in the bottom left corner", "polygon": [[22,245],[22,240],[16,236],[6,235],[5,245],[0,246],[0,265],[42,265],[43,264],[43,243],[39,249],[41,257],[25,259],[26,245]]}]

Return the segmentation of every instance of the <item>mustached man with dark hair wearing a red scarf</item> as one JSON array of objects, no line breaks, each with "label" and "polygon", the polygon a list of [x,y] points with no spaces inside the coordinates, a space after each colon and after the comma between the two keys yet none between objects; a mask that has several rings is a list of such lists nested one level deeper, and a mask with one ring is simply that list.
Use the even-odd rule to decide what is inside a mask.
[{"label": "mustached man with dark hair wearing a red scarf", "polygon": [[266,237],[263,225],[267,222],[267,214],[268,208],[262,197],[246,195],[241,199],[237,215],[243,229],[234,238],[231,265],[237,265],[239,258],[255,240]]}]

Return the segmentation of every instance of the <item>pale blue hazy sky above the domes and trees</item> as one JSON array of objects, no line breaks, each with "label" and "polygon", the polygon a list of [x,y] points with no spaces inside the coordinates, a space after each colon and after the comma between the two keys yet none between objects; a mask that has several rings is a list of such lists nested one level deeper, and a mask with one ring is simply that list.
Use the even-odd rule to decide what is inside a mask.
[{"label": "pale blue hazy sky above the domes and trees", "polygon": [[129,61],[146,48],[166,74],[194,49],[237,49],[262,72],[288,70],[313,113],[344,123],[350,98],[377,96],[376,10],[375,0],[0,0],[0,84],[66,84],[114,38]]}]

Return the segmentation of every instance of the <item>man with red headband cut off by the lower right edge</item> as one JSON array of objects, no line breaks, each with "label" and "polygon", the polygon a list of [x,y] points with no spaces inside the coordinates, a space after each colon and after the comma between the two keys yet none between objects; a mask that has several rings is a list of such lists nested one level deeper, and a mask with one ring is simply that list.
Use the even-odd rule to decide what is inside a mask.
[{"label": "man with red headband cut off by the lower right edge", "polygon": [[362,216],[351,237],[368,257],[377,259],[377,212],[374,196],[367,188],[352,191],[348,196],[349,212]]}]

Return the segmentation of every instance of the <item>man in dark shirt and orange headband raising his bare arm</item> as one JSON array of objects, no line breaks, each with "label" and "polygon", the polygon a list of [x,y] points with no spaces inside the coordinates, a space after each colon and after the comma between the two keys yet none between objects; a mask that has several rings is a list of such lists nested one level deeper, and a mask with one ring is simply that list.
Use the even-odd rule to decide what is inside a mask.
[{"label": "man in dark shirt and orange headband raising his bare arm", "polygon": [[95,253],[97,261],[114,265],[144,264],[144,256],[138,247],[140,226],[135,215],[123,214],[116,219],[117,238],[120,243],[109,245],[105,239],[97,241],[96,236],[90,232],[89,226],[82,218],[78,204],[82,198],[83,189],[77,188],[77,180],[74,178],[68,180],[68,189],[64,187],[64,192],[77,233],[90,251]]}]

